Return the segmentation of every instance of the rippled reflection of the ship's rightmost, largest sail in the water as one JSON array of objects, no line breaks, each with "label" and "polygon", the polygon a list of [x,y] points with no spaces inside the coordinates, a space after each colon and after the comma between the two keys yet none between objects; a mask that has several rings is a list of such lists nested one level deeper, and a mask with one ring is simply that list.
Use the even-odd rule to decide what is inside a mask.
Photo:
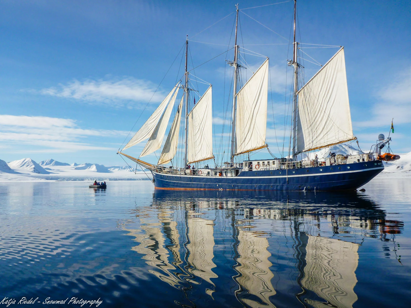
[{"label": "rippled reflection of the ship's rightmost, largest sail in the water", "polygon": [[[357,284],[358,244],[308,235],[301,285],[325,299],[332,307],[353,306],[358,299]],[[314,307],[326,307],[323,301],[309,299]]]}]

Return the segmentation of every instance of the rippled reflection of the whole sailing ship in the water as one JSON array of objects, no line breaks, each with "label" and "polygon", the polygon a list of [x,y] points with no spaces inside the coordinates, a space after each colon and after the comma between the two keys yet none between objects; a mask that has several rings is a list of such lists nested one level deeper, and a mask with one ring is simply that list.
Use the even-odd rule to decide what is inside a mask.
[{"label": "rippled reflection of the whole sailing ship in the water", "polygon": [[287,275],[295,276],[297,286],[290,288],[297,288],[296,300],[352,307],[360,245],[367,237],[393,241],[389,235],[403,229],[355,194],[156,190],[150,208],[135,215],[140,229],[126,229],[139,243],[132,250],[143,255],[148,272],[185,292],[192,306],[230,286],[243,306],[275,307],[284,249],[288,265],[295,264]]}]

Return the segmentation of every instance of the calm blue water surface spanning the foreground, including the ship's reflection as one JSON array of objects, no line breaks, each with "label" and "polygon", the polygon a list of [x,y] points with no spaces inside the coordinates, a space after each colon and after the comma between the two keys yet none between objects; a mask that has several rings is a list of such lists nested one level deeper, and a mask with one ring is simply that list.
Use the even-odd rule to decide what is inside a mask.
[{"label": "calm blue water surface spanning the foreground, including the ship's reflection", "polygon": [[[109,182],[107,190],[0,183],[0,301],[409,307],[411,181],[375,179],[365,188],[239,193],[154,191],[150,182]],[[47,298],[67,300],[45,305]]]}]

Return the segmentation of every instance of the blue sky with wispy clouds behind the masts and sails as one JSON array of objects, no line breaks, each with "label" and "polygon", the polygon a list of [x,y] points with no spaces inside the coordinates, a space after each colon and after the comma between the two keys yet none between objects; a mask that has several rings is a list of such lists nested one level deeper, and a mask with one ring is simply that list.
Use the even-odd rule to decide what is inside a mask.
[{"label": "blue sky with wispy clouds behind the masts and sails", "polygon": [[[282,1],[240,1],[239,7],[275,2]],[[0,2],[0,159],[124,165],[116,150],[136,120],[134,132],[182,77],[178,53],[186,34],[189,68],[223,53],[231,37],[234,5],[231,1]],[[353,131],[361,148],[368,150],[379,133],[387,135],[394,118],[394,152],[411,151],[410,2],[299,0],[297,8],[298,41],[345,48]],[[240,45],[270,57],[273,105],[270,93],[267,141],[278,155],[289,95],[287,72],[288,84],[291,81],[286,60],[292,57],[288,43],[293,2],[247,9],[239,16]],[[337,50],[304,49],[321,64]],[[230,101],[232,68],[226,59],[233,59],[232,50],[194,71],[213,85],[215,152]],[[249,69],[244,78],[263,62],[251,55],[245,60]],[[304,63],[308,81],[319,66]],[[200,93],[205,88],[199,84]],[[144,143],[128,153],[138,156],[143,147]],[[155,155],[148,160],[155,162]]]}]

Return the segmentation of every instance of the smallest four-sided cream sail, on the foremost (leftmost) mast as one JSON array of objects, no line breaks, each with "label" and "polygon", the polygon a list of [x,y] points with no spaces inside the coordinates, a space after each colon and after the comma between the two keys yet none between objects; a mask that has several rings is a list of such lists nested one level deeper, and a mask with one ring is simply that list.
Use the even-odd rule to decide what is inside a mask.
[{"label": "smallest four-sided cream sail, on the foremost (leftmost) mast", "polygon": [[189,163],[213,158],[212,155],[212,87],[208,87],[199,102],[188,114]]}]

